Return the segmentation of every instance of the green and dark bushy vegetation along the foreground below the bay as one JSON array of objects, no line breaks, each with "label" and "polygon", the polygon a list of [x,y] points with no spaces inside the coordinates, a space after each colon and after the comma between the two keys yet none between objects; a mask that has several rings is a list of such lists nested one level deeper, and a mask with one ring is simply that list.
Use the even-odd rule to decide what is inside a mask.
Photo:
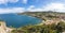
[{"label": "green and dark bushy vegetation along the foreground below the bay", "polygon": [[12,31],[12,33],[62,33],[65,31],[65,22],[57,24],[26,26]]}]

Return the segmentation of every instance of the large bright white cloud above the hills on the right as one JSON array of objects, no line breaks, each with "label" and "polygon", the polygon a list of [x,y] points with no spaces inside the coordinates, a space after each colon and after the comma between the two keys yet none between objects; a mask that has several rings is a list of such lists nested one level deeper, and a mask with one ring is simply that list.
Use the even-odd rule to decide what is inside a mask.
[{"label": "large bright white cloud above the hills on the right", "polygon": [[65,7],[65,4],[63,3],[50,3],[43,6],[44,10],[63,10]]}]

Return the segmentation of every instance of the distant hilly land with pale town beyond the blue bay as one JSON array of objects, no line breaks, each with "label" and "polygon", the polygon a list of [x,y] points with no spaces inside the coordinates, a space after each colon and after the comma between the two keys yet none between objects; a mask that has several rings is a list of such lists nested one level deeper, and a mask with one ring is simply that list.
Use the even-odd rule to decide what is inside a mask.
[{"label": "distant hilly land with pale town beyond the blue bay", "polygon": [[[27,15],[31,17],[37,17],[44,20],[44,23],[57,23],[60,21],[65,21],[65,13],[58,12],[25,12],[20,13],[18,15]],[[57,21],[57,22],[56,22]]]}]

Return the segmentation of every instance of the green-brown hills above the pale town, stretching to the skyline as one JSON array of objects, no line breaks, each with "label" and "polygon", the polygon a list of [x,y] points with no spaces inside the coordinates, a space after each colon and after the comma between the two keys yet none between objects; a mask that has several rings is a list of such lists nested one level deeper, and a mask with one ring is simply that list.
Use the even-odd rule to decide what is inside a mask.
[{"label": "green-brown hills above the pale town, stretching to the skyline", "polygon": [[[65,18],[65,13],[57,13],[57,12],[25,12],[25,13],[20,13],[18,15],[27,15],[27,16],[32,16],[32,17],[37,17],[40,18],[42,20],[47,20],[47,19],[53,19],[53,18]],[[63,18],[64,17],[64,18]]]}]

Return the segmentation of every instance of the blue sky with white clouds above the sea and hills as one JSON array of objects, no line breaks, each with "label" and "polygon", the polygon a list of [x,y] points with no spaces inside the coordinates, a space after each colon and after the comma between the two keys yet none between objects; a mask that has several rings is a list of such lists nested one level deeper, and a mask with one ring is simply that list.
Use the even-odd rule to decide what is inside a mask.
[{"label": "blue sky with white clouds above the sea and hills", "polygon": [[65,12],[65,0],[0,0],[0,14],[43,11]]}]

